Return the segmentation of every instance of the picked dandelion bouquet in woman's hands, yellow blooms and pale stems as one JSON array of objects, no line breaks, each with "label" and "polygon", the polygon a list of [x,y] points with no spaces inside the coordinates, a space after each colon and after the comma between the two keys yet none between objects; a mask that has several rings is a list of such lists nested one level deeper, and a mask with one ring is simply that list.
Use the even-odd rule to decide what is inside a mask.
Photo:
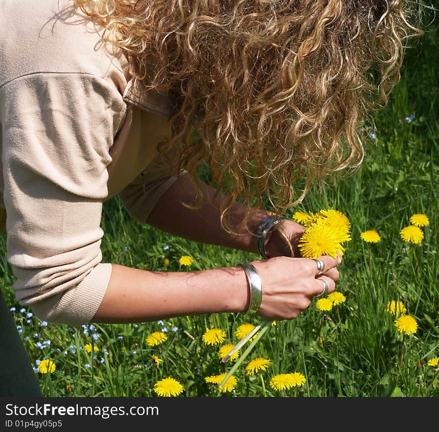
[{"label": "picked dandelion bouquet in woman's hands, yellow blooms and pale stems", "polygon": [[[318,258],[323,255],[336,258],[338,253],[343,255],[345,251],[343,244],[351,240],[351,223],[346,215],[338,210],[331,208],[320,210],[318,213],[296,212],[293,219],[305,227],[298,244],[300,253],[304,258]],[[224,386],[271,325],[272,320],[262,320],[221,359],[221,363],[227,362],[233,354],[239,351],[248,341],[251,341],[219,384],[220,388]]]}]

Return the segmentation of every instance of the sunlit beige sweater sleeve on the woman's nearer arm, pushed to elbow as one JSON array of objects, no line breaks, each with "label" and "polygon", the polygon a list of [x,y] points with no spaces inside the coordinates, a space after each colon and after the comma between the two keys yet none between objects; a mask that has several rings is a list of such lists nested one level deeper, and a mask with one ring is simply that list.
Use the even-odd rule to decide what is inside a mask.
[{"label": "sunlit beige sweater sleeve on the woman's nearer arm, pushed to elbow", "polygon": [[7,260],[16,300],[79,326],[111,275],[100,228],[113,137],[126,105],[110,79],[35,73],[1,88]]}]

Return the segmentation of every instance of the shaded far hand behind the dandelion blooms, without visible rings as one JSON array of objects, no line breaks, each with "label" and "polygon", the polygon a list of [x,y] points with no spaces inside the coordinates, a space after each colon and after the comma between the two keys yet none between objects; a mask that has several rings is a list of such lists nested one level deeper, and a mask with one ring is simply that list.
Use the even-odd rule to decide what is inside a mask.
[{"label": "shaded far hand behind the dandelion blooms, without visible rings", "polygon": [[[291,220],[283,220],[280,224],[283,233],[291,242],[294,253],[293,256],[301,257],[298,244],[305,227]],[[275,228],[270,232],[268,240],[265,243],[265,253],[268,258],[280,256],[291,257],[291,250],[288,247],[285,237]]]}]

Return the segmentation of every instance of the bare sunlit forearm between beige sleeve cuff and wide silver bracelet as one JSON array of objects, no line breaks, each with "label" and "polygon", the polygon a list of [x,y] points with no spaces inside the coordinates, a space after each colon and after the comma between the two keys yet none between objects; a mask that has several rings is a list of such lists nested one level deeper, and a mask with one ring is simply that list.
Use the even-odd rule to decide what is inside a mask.
[{"label": "bare sunlit forearm between beige sleeve cuff and wide silver bracelet", "polygon": [[91,321],[136,323],[243,312],[248,301],[247,280],[241,267],[151,272],[113,264],[107,291]]}]

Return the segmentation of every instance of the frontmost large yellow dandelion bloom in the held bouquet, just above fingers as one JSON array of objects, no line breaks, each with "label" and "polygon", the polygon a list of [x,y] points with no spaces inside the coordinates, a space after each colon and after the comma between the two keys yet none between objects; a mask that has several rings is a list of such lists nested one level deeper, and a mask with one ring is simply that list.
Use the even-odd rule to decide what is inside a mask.
[{"label": "frontmost large yellow dandelion bloom in the held bouquet, just above fingers", "polygon": [[304,258],[317,258],[329,255],[336,258],[343,254],[344,248],[340,244],[340,236],[329,225],[314,223],[302,234],[299,249]]}]

